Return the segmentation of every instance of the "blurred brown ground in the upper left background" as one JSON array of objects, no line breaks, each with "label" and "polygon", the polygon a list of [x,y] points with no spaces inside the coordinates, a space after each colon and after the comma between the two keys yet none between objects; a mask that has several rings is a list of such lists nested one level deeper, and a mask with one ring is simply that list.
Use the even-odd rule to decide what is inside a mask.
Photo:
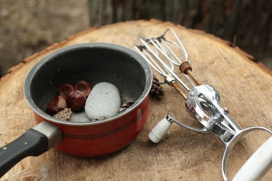
[{"label": "blurred brown ground in the upper left background", "polygon": [[[88,13],[88,0],[0,0],[0,77],[34,52],[88,29]],[[272,69],[271,57],[260,61]]]}]

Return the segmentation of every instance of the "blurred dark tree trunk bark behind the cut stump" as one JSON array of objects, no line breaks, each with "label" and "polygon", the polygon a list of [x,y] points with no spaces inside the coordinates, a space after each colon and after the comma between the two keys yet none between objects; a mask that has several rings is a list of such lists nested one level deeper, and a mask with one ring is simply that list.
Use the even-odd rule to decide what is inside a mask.
[{"label": "blurred dark tree trunk bark behind the cut stump", "polygon": [[212,33],[255,58],[272,53],[271,0],[89,0],[89,17],[90,26],[156,18]]}]

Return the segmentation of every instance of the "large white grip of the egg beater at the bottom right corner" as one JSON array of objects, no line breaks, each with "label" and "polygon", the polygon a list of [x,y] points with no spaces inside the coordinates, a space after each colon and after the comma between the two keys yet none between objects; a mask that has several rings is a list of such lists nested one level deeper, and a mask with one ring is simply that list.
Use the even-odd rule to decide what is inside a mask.
[{"label": "large white grip of the egg beater at the bottom right corner", "polygon": [[272,167],[272,137],[240,168],[232,181],[259,181]]}]

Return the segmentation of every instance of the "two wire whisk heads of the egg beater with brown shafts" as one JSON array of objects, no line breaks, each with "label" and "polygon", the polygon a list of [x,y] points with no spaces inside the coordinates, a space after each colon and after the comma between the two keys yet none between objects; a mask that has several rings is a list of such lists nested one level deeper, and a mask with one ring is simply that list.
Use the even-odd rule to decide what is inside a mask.
[{"label": "two wire whisk heads of the egg beater with brown shafts", "polygon": [[[171,32],[174,35],[176,41],[172,41],[165,37],[168,32]],[[168,29],[158,37],[150,39],[141,38],[140,40],[142,45],[136,46],[136,50],[148,61],[150,66],[152,66],[159,74],[164,76],[165,82],[173,86],[184,99],[187,98],[187,95],[176,81],[178,81],[187,91],[189,91],[190,88],[177,76],[176,73],[184,73],[187,81],[193,87],[196,86],[195,84],[201,84],[197,77],[192,73],[192,67],[188,59],[186,49],[172,29]],[[179,50],[179,53],[184,56],[184,60],[182,60],[177,53],[173,51],[170,44]],[[162,56],[160,56],[160,54]],[[177,71],[174,66],[177,66],[179,70]]]}]

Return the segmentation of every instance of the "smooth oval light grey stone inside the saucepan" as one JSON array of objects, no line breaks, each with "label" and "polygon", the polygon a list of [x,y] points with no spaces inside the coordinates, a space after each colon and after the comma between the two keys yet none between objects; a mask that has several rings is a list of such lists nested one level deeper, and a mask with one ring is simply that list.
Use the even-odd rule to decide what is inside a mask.
[{"label": "smooth oval light grey stone inside the saucepan", "polygon": [[85,103],[85,113],[90,120],[105,119],[119,113],[121,98],[118,88],[109,82],[96,84]]}]

